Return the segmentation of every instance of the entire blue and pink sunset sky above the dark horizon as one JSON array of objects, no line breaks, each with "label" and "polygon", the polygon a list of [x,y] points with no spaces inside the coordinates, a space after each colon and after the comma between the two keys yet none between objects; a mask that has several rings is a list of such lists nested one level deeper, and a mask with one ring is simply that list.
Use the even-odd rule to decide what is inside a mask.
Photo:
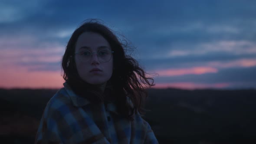
[{"label": "entire blue and pink sunset sky above the dark horizon", "polygon": [[66,44],[101,19],[153,88],[256,88],[256,0],[1,0],[0,88],[60,88]]}]

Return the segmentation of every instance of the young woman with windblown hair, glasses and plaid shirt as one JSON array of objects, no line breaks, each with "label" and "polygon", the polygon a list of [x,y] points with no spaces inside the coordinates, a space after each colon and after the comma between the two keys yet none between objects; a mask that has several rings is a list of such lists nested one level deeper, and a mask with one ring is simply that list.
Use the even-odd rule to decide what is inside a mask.
[{"label": "young woman with windblown hair, glasses and plaid shirt", "polygon": [[36,144],[158,144],[140,115],[142,84],[154,80],[125,48],[98,21],[75,30],[62,59],[66,82],[46,105]]}]

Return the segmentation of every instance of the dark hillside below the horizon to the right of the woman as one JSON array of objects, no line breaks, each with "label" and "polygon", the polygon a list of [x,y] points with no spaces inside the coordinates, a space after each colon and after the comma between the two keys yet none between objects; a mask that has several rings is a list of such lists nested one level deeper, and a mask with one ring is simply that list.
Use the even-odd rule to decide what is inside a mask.
[{"label": "dark hillside below the horizon to the right of the woman", "polygon": [[[233,144],[256,137],[256,90],[149,89],[145,117],[158,135]],[[154,127],[154,126],[153,126]],[[172,138],[171,138],[172,137]],[[175,142],[175,141],[172,141]],[[186,141],[184,142],[186,143]]]}]

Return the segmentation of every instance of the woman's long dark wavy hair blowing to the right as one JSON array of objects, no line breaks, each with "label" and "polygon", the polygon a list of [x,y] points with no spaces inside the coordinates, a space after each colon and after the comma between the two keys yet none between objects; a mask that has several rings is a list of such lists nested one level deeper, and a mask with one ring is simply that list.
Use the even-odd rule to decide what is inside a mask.
[{"label": "woman's long dark wavy hair blowing to the right", "polygon": [[[130,55],[125,53],[127,49],[134,49],[128,45],[127,40],[121,40],[112,29],[96,19],[86,20],[75,29],[66,46],[62,59],[63,79],[72,90],[90,101],[104,101],[104,96],[99,93],[99,88],[84,82],[76,69],[74,53],[78,37],[85,32],[93,32],[102,35],[110,44],[113,53],[113,73],[108,80],[105,92],[115,99],[117,111],[125,118],[133,120],[137,112],[142,114],[144,100],[148,94],[144,88],[154,85],[154,79],[148,77],[144,69]],[[119,35],[121,36],[121,35]],[[93,96],[92,96],[93,95]],[[129,102],[130,101],[130,102]]]}]

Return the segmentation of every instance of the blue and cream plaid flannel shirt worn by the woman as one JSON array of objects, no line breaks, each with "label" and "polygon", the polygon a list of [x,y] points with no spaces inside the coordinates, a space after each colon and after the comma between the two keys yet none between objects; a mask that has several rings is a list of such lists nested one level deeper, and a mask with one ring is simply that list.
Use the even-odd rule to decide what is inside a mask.
[{"label": "blue and cream plaid flannel shirt worn by the woman", "polygon": [[92,104],[63,85],[46,105],[35,144],[158,144],[139,114],[128,121],[113,103]]}]

